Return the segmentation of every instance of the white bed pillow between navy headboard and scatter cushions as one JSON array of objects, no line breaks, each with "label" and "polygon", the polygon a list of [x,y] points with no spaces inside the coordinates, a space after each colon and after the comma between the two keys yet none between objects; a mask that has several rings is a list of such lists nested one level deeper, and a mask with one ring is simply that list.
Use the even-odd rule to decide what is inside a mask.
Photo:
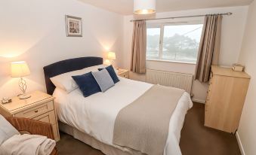
[{"label": "white bed pillow between navy headboard and scatter cushions", "polygon": [[94,65],[88,68],[83,68],[77,71],[70,71],[64,74],[59,74],[51,79],[51,82],[54,83],[55,87],[60,88],[61,90],[66,91],[67,93],[76,90],[79,86],[76,84],[76,81],[72,79],[72,76],[81,75],[88,73],[90,71],[98,71],[98,68],[105,68],[106,65]]}]

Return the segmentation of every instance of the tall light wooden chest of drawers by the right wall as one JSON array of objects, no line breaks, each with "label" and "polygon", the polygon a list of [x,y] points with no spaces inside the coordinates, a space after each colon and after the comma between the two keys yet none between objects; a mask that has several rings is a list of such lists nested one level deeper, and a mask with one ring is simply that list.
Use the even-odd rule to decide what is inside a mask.
[{"label": "tall light wooden chest of drawers by the right wall", "polygon": [[231,68],[211,66],[205,105],[205,126],[236,132],[239,126],[250,76]]}]

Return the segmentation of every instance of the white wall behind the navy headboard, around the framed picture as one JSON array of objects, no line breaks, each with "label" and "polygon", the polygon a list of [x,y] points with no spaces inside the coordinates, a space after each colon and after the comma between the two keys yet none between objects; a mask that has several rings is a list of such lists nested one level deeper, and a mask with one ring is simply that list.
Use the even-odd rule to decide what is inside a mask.
[{"label": "white wall behind the navy headboard, around the framed picture", "polygon": [[[82,38],[66,37],[66,14],[82,17]],[[76,0],[1,0],[0,19],[0,98],[20,93],[18,79],[9,75],[10,62],[28,62],[28,90],[45,91],[45,65],[103,56],[106,49],[117,58],[122,54],[123,17]]]}]

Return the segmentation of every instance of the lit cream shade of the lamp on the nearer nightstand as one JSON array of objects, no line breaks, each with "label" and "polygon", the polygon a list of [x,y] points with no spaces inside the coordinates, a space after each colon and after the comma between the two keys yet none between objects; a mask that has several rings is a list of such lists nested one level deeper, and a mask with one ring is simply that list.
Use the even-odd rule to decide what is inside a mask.
[{"label": "lit cream shade of the lamp on the nearer nightstand", "polygon": [[11,77],[21,78],[29,74],[29,66],[26,64],[26,62],[11,62]]}]

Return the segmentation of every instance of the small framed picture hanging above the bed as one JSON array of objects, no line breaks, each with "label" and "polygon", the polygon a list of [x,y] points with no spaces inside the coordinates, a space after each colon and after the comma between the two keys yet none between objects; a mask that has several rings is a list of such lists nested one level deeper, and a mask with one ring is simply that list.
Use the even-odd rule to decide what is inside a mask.
[{"label": "small framed picture hanging above the bed", "polygon": [[66,15],[66,36],[82,37],[82,18]]}]

